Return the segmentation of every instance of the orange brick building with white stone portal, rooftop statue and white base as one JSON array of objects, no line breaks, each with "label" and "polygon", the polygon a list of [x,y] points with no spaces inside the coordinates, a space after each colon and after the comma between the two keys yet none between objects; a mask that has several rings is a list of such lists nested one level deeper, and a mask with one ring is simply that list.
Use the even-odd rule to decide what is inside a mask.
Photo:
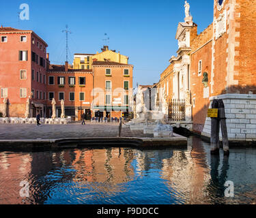
[{"label": "orange brick building with white stone portal, rooftop statue and white base", "polygon": [[256,1],[214,0],[213,22],[200,34],[188,3],[185,8],[186,18],[177,27],[177,56],[155,85],[164,87],[161,102],[184,99],[193,131],[210,136],[208,108],[213,99],[223,99],[229,138],[255,140]]}]

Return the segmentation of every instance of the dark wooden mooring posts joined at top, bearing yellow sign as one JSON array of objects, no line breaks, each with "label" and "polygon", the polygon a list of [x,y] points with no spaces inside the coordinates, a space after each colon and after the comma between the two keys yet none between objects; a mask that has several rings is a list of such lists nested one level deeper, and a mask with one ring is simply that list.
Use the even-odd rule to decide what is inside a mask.
[{"label": "dark wooden mooring posts joined at top, bearing yellow sign", "polygon": [[[217,110],[216,110],[217,109]],[[220,150],[220,127],[223,138],[224,155],[229,155],[229,140],[227,136],[227,123],[225,115],[225,106],[222,99],[214,99],[212,102],[212,110],[218,111],[218,114],[208,115],[212,119],[211,124],[211,154],[219,154]]]}]

